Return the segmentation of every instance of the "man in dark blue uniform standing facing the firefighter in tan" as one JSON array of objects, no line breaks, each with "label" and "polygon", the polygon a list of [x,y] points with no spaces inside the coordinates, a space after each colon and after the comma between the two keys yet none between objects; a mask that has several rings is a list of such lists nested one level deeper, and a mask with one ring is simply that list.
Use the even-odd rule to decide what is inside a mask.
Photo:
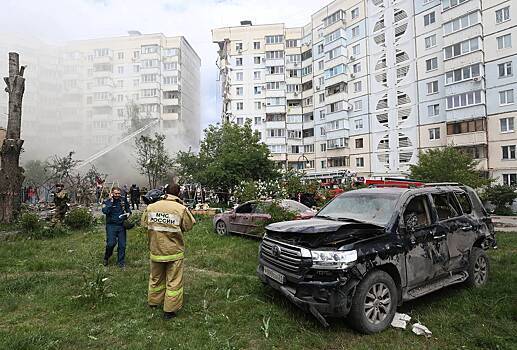
[{"label": "man in dark blue uniform standing facing the firefighter in tan", "polygon": [[131,214],[131,208],[126,198],[121,197],[120,188],[113,187],[110,196],[104,201],[102,212],[106,215],[106,252],[104,253],[104,266],[108,261],[118,242],[117,264],[120,268],[126,265],[126,229],[124,220]]}]

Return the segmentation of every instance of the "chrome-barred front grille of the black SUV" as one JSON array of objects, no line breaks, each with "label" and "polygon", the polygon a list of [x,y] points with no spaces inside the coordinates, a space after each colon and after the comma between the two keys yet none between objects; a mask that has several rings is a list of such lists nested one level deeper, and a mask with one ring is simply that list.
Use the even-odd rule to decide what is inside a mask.
[{"label": "chrome-barred front grille of the black SUV", "polygon": [[265,238],[262,241],[262,258],[282,270],[292,273],[299,272],[302,266],[302,258],[305,257],[304,248],[298,248],[289,244]]}]

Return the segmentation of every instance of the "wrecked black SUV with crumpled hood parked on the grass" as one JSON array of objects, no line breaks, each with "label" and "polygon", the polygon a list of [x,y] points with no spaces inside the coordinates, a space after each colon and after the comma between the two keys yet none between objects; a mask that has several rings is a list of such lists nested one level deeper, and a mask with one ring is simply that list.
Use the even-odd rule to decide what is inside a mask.
[{"label": "wrecked black SUV with crumpled hood parked on the grass", "polygon": [[343,193],[310,220],[268,225],[257,273],[323,325],[348,315],[375,333],[398,305],[442,287],[487,282],[492,221],[467,186]]}]

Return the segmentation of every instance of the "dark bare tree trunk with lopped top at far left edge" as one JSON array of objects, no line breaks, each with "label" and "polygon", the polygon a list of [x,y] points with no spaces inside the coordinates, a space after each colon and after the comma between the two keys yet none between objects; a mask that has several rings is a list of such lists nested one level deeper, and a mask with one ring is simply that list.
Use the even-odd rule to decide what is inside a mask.
[{"label": "dark bare tree trunk with lopped top at far left edge", "polygon": [[9,52],[9,77],[4,78],[5,92],[9,94],[9,116],[7,134],[0,149],[0,222],[3,223],[12,223],[20,212],[20,192],[25,178],[20,167],[24,71],[25,66],[20,68],[18,54]]}]

